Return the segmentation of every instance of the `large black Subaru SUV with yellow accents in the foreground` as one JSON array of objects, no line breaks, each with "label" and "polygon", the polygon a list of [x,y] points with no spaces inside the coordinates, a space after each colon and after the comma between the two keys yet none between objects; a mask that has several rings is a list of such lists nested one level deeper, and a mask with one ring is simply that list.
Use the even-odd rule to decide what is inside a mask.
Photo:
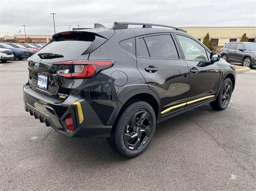
[{"label": "large black Subaru SUV with yellow accents in the foreground", "polygon": [[25,110],[60,134],[106,137],[126,157],[146,149],[156,123],[207,103],[223,110],[234,90],[234,67],[180,28],[114,22],[52,37],[28,59]]}]

